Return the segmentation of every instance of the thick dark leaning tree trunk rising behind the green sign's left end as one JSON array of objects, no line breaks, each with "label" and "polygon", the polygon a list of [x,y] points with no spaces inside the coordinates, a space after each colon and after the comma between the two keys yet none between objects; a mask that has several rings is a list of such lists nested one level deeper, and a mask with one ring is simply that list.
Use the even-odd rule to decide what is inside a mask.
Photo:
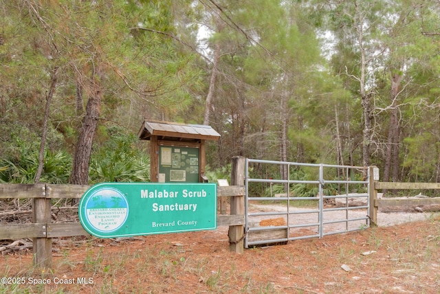
[{"label": "thick dark leaning tree trunk rising behind the green sign's left end", "polygon": [[94,74],[91,84],[91,96],[87,102],[85,116],[80,129],[70,177],[70,182],[74,185],[89,184],[89,162],[96,127],[98,126],[101,100],[102,89],[100,81]]}]

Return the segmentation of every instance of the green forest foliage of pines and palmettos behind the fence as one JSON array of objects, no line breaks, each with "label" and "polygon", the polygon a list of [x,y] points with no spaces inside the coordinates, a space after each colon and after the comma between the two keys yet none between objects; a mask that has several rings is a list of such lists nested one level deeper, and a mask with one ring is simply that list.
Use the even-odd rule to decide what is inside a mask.
[{"label": "green forest foliage of pines and palmettos behind the fence", "polygon": [[[202,123],[210,89],[210,125],[221,134],[206,145],[210,181],[229,178],[236,155],[359,166],[367,146],[381,171],[396,147],[398,180],[438,182],[439,15],[423,0],[0,0],[0,180],[33,182],[58,67],[41,181],[68,181],[97,84],[93,183],[148,181],[148,143],[135,136],[143,120]],[[250,173],[286,176],[260,165]]]}]

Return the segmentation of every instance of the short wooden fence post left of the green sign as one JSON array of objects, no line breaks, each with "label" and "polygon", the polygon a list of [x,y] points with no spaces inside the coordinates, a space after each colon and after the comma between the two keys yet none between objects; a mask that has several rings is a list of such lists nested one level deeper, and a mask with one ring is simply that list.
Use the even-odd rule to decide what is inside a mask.
[{"label": "short wooden fence post left of the green sign", "polygon": [[[32,222],[39,223],[43,226],[44,233],[47,233],[47,224],[51,219],[52,201],[50,198],[45,198],[47,189],[43,188],[43,196],[41,198],[34,198],[34,205],[32,206]],[[34,252],[34,265],[42,268],[52,267],[52,238],[32,238],[32,248]]]}]

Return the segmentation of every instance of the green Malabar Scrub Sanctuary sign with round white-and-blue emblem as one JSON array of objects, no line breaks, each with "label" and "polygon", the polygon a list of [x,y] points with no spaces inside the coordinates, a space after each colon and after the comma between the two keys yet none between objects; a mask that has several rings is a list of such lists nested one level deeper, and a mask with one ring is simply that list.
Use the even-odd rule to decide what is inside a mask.
[{"label": "green Malabar Scrub Sanctuary sign with round white-and-blue emblem", "polygon": [[216,229],[217,186],[104,182],[85,192],[78,213],[100,238]]}]

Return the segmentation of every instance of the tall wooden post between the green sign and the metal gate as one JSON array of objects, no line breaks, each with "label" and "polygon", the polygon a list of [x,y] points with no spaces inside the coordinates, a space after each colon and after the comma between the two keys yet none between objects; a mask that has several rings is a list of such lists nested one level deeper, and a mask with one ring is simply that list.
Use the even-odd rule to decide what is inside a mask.
[{"label": "tall wooden post between the green sign and the metal gate", "polygon": [[[245,180],[245,158],[243,156],[234,156],[232,158],[231,185],[243,186]],[[244,196],[231,197],[231,215],[245,214],[245,198]],[[229,249],[236,253],[244,251],[244,226],[229,227]]]}]

